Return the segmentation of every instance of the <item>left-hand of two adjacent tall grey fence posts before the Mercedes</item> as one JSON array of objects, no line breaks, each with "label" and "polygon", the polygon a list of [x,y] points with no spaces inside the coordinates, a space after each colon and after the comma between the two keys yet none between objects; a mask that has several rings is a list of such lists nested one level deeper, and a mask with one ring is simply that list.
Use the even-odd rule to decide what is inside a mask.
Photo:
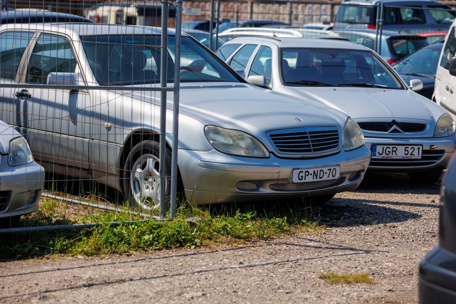
[{"label": "left-hand of two adjacent tall grey fence posts before the Mercedes", "polygon": [[[162,54],[160,86],[166,87],[167,84],[167,61],[168,61],[168,0],[162,0]],[[180,70],[179,70],[180,71]],[[166,215],[166,91],[160,95],[160,217]]]}]

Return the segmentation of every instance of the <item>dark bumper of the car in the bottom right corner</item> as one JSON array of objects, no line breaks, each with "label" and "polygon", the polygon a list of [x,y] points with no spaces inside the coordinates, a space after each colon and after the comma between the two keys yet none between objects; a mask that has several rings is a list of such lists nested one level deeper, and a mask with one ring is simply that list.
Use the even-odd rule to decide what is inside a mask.
[{"label": "dark bumper of the car in the bottom right corner", "polygon": [[440,246],[420,264],[418,296],[421,304],[456,303],[456,254]]}]

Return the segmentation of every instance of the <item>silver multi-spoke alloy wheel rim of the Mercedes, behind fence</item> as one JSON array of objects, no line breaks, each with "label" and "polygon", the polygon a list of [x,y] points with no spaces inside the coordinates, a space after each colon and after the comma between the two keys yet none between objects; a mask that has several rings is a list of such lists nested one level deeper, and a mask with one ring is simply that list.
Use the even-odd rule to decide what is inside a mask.
[{"label": "silver multi-spoke alloy wheel rim of the Mercedes, behind fence", "polygon": [[131,193],[136,204],[146,210],[160,208],[160,160],[152,154],[141,155],[133,164]]}]

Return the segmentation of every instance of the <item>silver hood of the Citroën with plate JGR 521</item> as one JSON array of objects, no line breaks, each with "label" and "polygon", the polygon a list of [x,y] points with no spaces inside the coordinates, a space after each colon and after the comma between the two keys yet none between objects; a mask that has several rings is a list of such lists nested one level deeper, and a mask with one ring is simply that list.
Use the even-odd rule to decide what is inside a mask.
[{"label": "silver hood of the Citro\u00ebn with plate JGR 521", "polygon": [[[410,90],[359,87],[286,87],[293,96],[314,99],[322,104],[361,118],[412,118],[431,121],[443,114],[430,100]],[[440,113],[440,114],[439,114]]]}]

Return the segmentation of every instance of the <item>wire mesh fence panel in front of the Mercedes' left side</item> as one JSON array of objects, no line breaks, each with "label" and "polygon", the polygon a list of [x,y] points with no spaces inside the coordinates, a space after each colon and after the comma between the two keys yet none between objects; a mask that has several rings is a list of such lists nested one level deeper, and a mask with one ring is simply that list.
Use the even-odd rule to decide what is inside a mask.
[{"label": "wire mesh fence panel in front of the Mercedes' left side", "polygon": [[[79,3],[107,20],[60,5],[2,3],[2,231],[93,224],[91,208],[174,216],[181,1]],[[132,8],[147,26],[125,25]]]}]

